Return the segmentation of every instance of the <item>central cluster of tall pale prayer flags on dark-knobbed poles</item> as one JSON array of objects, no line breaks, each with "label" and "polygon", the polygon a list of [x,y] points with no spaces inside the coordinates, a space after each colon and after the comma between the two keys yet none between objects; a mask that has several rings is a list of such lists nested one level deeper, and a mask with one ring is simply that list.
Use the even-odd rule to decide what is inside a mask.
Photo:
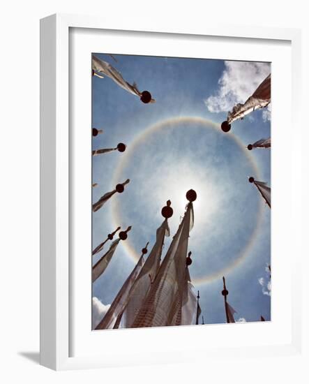
[{"label": "central cluster of tall pale prayer flags on dark-knobbed poles", "polygon": [[186,198],[186,212],[162,262],[165,237],[169,236],[168,219],[173,215],[169,200],[161,211],[164,221],[156,231],[156,242],[148,258],[144,260],[145,247],[96,330],[199,323],[202,310],[199,292],[195,295],[190,279],[192,259],[191,252],[188,253],[189,232],[193,228],[193,201],[197,194],[190,190]]}]

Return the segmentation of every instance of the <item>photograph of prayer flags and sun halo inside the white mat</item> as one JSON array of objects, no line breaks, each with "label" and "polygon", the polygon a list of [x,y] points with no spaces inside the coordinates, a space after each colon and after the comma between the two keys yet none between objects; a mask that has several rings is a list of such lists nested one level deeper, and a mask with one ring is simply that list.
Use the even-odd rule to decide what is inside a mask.
[{"label": "photograph of prayer flags and sun halo inside the white mat", "polygon": [[271,63],[92,52],[89,76],[92,330],[271,321]]}]

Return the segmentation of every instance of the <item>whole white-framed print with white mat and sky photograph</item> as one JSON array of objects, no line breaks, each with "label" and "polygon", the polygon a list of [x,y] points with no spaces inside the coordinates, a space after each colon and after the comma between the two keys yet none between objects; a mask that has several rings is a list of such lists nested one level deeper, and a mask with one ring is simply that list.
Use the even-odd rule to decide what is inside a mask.
[{"label": "whole white-framed print with white mat and sky photograph", "polygon": [[135,29],[41,20],[41,364],[299,353],[299,31]]}]

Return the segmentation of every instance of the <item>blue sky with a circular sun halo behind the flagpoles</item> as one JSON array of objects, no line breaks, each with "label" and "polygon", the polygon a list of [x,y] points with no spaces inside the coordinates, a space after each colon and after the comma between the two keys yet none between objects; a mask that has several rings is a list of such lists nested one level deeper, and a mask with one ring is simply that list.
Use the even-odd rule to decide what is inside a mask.
[{"label": "blue sky with a circular sun halo behind the flagpoles", "polygon": [[[93,138],[93,149],[116,147],[118,142],[128,146],[124,153],[93,158],[93,182],[98,183],[93,201],[114,189],[116,170],[116,182],[131,180],[123,193],[93,213],[93,247],[116,226],[132,225],[126,242],[135,250],[135,257],[146,242],[150,249],[163,221],[160,210],[168,199],[174,208],[169,219],[174,235],[186,206],[186,190],[193,188],[197,201],[188,249],[193,253],[190,274],[199,289],[204,320],[225,323],[220,271],[234,265],[247,248],[241,263],[225,272],[228,301],[237,311],[236,320],[255,321],[261,315],[270,320],[271,300],[265,294],[269,292],[259,279],[264,279],[264,285],[269,280],[265,267],[271,257],[271,215],[248,177],[257,177],[258,170],[259,179],[271,186],[271,156],[268,149],[246,150],[249,143],[269,138],[269,115],[266,110],[255,111],[232,124],[231,133],[198,119],[179,119],[198,117],[220,124],[230,106],[255,91],[269,74],[270,65],[126,55],[114,55],[115,62],[109,55],[96,55],[131,84],[137,82],[140,91],[150,91],[156,103],[145,105],[108,77],[92,79],[92,126],[104,130]],[[150,128],[173,120],[176,123],[163,124],[161,129]],[[151,132],[140,140],[147,129]],[[107,249],[105,246],[93,261]],[[134,255],[121,242],[105,273],[93,284],[93,296],[110,304],[134,265]]]}]

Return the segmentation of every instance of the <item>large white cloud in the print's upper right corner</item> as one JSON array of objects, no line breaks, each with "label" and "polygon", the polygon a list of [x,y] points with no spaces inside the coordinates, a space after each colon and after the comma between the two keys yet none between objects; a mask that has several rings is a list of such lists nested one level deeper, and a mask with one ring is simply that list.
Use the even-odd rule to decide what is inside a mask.
[{"label": "large white cloud in the print's upper right corner", "polygon": [[[209,112],[227,112],[237,103],[245,102],[270,71],[268,63],[225,61],[218,91],[204,101]],[[269,119],[270,112],[264,112],[263,118]]]}]

